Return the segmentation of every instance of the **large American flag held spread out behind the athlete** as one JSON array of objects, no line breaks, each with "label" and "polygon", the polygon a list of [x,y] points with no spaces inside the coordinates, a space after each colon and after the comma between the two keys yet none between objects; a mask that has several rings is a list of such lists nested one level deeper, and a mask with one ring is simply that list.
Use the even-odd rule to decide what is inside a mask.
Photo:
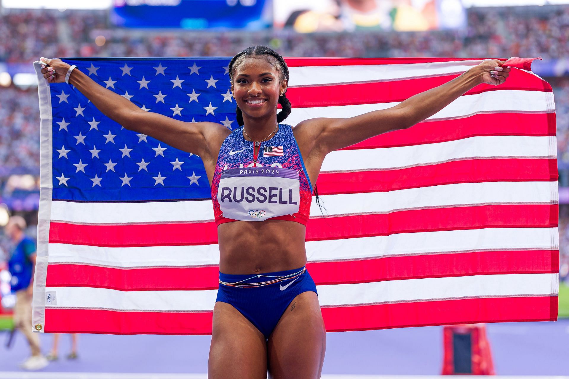
[{"label": "large American flag held spread out behind the athlete", "polygon": [[[228,58],[64,61],[147,111],[237,126]],[[286,123],[386,109],[479,62],[289,58]],[[554,99],[518,67],[326,157],[326,214],[312,202],[306,249],[328,331],[557,318]],[[211,333],[219,257],[200,157],[123,129],[35,69],[35,329]]]}]

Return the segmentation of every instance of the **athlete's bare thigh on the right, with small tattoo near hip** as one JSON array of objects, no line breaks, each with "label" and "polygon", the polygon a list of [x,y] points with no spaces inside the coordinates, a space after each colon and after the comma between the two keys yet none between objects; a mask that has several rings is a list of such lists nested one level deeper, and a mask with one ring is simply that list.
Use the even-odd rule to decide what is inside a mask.
[{"label": "athlete's bare thigh on the right, with small tattoo near hip", "polygon": [[326,331],[318,296],[306,291],[294,298],[269,336],[269,377],[320,378]]}]

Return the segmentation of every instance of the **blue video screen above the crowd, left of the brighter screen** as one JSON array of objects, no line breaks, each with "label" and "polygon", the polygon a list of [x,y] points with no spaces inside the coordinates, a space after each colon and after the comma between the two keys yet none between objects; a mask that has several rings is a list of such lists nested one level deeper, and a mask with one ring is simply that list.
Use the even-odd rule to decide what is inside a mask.
[{"label": "blue video screen above the crowd, left of the brighter screen", "polygon": [[114,0],[110,20],[132,28],[259,30],[273,23],[271,0]]}]

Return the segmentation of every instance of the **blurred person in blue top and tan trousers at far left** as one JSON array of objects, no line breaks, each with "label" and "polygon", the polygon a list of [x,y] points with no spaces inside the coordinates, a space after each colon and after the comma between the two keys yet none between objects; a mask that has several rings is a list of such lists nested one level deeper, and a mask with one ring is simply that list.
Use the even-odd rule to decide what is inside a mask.
[{"label": "blurred person in blue top and tan trousers at far left", "polygon": [[34,289],[34,269],[36,244],[24,231],[26,220],[22,216],[12,216],[5,232],[14,242],[14,249],[8,261],[12,278],[11,290],[16,294],[14,306],[14,326],[22,332],[30,344],[31,356],[20,364],[26,370],[39,370],[48,365],[48,360],[40,350],[39,335],[32,332],[32,291]]}]

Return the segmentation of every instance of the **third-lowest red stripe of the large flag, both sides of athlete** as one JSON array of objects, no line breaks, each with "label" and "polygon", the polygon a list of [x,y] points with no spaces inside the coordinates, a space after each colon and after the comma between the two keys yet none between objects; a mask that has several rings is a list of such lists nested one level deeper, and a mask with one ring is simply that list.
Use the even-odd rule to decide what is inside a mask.
[{"label": "third-lowest red stripe of the large flag, both sides of athlete", "polygon": [[[491,227],[556,227],[558,218],[556,204],[457,206],[327,216],[308,220],[306,240]],[[201,245],[217,243],[217,232],[213,222],[133,225],[52,222],[50,243],[103,247]]]}]

